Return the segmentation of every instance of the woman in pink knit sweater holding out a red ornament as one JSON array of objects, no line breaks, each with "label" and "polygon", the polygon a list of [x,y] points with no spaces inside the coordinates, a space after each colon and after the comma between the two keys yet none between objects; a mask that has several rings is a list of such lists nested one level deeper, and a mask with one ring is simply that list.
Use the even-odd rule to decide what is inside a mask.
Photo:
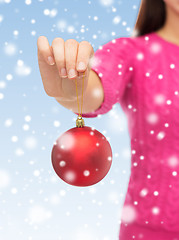
[{"label": "woman in pink knit sweater holding out a red ornament", "polygon": [[178,0],[143,0],[135,36],[113,39],[95,53],[87,41],[56,38],[50,46],[38,39],[49,96],[77,113],[74,80],[85,73],[83,116],[120,103],[128,118],[131,175],[120,240],[179,240],[178,26]]}]

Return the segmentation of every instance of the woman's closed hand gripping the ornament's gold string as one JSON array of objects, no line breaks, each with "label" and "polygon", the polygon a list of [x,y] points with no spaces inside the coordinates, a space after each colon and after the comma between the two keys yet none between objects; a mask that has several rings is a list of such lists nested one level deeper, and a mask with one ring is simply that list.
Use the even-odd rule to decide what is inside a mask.
[{"label": "woman's closed hand gripping the ornament's gold string", "polygon": [[[94,54],[91,44],[87,41],[78,43],[75,39],[64,41],[55,38],[50,46],[48,39],[40,36],[37,47],[40,74],[47,95],[65,101],[76,98],[77,78],[78,96],[81,96],[82,76],[85,74],[85,91]],[[78,67],[80,62],[84,64]]]}]

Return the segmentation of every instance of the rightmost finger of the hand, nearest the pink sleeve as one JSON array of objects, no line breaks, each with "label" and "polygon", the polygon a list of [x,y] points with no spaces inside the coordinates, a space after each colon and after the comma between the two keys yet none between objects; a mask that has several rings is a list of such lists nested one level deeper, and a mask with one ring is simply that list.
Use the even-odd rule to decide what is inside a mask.
[{"label": "rightmost finger of the hand, nearest the pink sleeve", "polygon": [[77,54],[77,71],[84,72],[87,69],[89,60],[93,55],[94,50],[88,41],[82,41],[78,46]]}]

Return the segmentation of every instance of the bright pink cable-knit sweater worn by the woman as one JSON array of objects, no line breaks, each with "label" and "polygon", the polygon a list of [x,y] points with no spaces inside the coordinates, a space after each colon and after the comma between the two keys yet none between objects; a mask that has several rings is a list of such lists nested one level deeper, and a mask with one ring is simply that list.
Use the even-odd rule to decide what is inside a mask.
[{"label": "bright pink cable-knit sweater worn by the woman", "polygon": [[104,102],[83,116],[120,103],[131,139],[119,239],[179,240],[179,46],[152,32],[114,39],[94,58]]}]

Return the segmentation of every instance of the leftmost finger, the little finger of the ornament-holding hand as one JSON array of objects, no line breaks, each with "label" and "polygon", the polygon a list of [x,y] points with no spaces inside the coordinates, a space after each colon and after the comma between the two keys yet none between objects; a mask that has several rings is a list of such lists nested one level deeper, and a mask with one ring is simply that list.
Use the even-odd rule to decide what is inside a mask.
[{"label": "leftmost finger, the little finger of the ornament-holding hand", "polygon": [[48,39],[45,36],[40,36],[37,40],[38,54],[41,55],[47,64],[54,65],[55,60],[53,52],[49,45]]}]

